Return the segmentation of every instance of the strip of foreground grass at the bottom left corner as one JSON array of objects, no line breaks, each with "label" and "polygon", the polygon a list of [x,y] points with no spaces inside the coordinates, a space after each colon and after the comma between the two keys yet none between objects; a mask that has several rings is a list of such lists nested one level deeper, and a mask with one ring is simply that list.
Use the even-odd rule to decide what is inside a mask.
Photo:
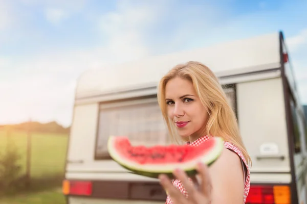
[{"label": "strip of foreground grass at the bottom left corner", "polygon": [[25,193],[13,197],[0,198],[1,204],[65,204],[61,189],[56,188],[38,193]]}]

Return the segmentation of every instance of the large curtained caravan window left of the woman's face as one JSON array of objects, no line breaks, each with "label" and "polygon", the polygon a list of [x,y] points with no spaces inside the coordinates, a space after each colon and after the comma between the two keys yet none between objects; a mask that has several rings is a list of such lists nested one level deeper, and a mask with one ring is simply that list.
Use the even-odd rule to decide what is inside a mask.
[{"label": "large curtained caravan window left of the woman's face", "polygon": [[101,105],[96,159],[109,159],[109,136],[127,136],[132,145],[166,145],[170,139],[156,98]]}]

